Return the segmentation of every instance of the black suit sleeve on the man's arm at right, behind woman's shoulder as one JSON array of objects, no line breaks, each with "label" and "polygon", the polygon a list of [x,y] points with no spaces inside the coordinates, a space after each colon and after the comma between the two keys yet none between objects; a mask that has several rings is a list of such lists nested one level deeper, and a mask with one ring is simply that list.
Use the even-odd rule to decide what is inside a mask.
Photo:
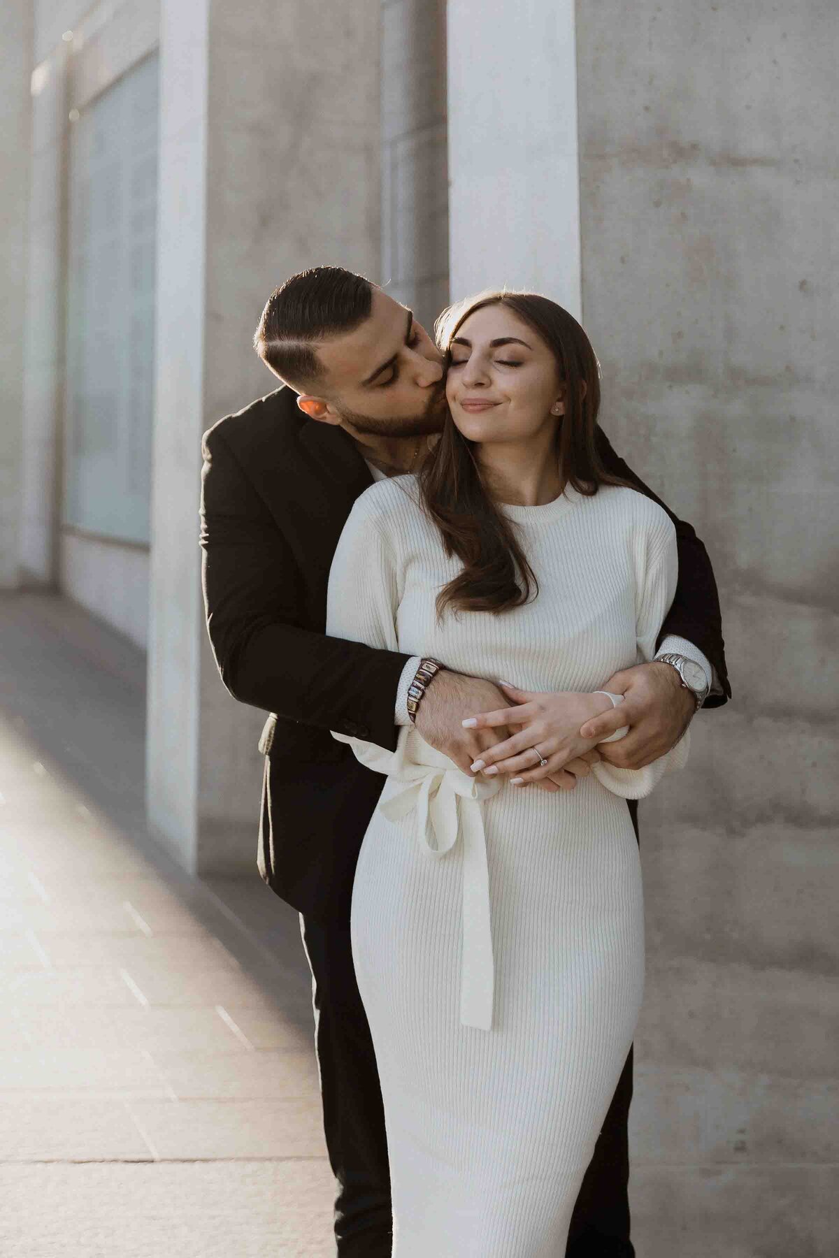
[{"label": "black suit sleeve on the man's arm at right, behind woman's shoulder", "polygon": [[660,626],[658,643],[660,644],[668,637],[683,638],[696,643],[699,650],[707,655],[711,664],[713,664],[722,687],[722,693],[708,696],[704,706],[718,707],[731,697],[731,686],[728,684],[728,673],[726,669],[720,595],[708,552],[697,537],[693,526],[674,516],[667,503],[662,502],[615,453],[601,428],[597,428],[596,438],[597,453],[606,469],[613,476],[618,476],[636,489],[640,489],[653,502],[657,502],[668,513],[675,526],[679,567],[678,585],[673,604]]}]

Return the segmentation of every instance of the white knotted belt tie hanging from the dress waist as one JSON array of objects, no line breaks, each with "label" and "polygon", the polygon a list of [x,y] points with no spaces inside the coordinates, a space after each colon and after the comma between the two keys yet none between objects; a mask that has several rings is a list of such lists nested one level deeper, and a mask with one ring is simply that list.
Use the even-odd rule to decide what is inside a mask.
[{"label": "white knotted belt tie hanging from the dress waist", "polygon": [[489,920],[489,871],[481,801],[489,799],[499,781],[469,777],[450,767],[403,761],[381,793],[379,808],[390,821],[415,809],[420,843],[442,860],[463,840],[463,966],[460,971],[460,1023],[481,1030],[492,1028],[494,966]]}]

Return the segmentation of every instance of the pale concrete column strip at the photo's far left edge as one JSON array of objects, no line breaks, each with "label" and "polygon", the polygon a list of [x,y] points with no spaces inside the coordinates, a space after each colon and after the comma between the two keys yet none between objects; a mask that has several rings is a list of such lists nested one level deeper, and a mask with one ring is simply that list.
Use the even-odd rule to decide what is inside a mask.
[{"label": "pale concrete column strip at the photo's far left edge", "polygon": [[31,39],[31,6],[10,0],[0,10],[0,64],[8,84],[0,98],[0,589],[18,585],[20,565]]}]

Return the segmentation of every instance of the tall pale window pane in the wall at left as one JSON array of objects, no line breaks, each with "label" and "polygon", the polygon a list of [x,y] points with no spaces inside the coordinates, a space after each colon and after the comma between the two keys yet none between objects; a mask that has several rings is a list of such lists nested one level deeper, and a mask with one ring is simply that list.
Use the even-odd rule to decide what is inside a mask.
[{"label": "tall pale window pane in the wall at left", "polygon": [[157,57],[70,128],[64,522],[148,541]]}]

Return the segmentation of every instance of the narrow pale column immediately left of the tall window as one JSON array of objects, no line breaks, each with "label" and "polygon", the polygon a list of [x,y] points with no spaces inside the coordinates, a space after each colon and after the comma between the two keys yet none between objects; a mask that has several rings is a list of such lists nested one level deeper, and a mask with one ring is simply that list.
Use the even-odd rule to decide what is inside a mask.
[{"label": "narrow pale column immediately left of the tall window", "polygon": [[20,579],[53,585],[64,387],[64,135],[67,48],[60,39],[31,72],[29,249],[24,313]]}]

